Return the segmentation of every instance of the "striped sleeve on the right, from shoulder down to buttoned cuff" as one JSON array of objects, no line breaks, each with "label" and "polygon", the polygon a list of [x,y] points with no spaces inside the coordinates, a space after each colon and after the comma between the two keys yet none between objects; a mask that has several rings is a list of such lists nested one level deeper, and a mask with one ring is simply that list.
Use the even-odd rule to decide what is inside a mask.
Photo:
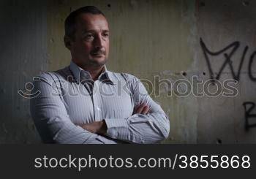
[{"label": "striped sleeve on the right, from shoulder down to buttoned cuff", "polygon": [[107,135],[113,139],[132,143],[158,143],[165,140],[170,132],[170,121],[162,108],[148,95],[143,83],[129,75],[128,83],[133,102],[150,107],[146,115],[135,114],[129,118],[106,118]]}]

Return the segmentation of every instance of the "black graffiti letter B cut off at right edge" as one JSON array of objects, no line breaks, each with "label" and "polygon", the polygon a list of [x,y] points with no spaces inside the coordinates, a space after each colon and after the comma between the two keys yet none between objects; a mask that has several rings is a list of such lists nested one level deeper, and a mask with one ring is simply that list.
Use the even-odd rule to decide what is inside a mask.
[{"label": "black graffiti letter B cut off at right edge", "polygon": [[256,119],[256,113],[255,114],[252,113],[252,110],[255,108],[255,103],[254,102],[244,102],[243,105],[244,105],[244,112],[245,112],[244,113],[244,115],[245,115],[245,130],[248,131],[249,128],[256,126],[256,122],[251,123],[249,121],[249,118]]}]

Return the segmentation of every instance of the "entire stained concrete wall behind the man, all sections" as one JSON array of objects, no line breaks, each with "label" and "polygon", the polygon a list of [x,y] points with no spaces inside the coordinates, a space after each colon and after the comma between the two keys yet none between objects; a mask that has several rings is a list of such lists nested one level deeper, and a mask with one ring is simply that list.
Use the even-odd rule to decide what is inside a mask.
[{"label": "entire stained concrete wall behind the man, all sections", "polygon": [[[0,143],[40,142],[29,100],[18,95],[18,90],[28,92],[26,83],[39,72],[69,64],[69,51],[63,43],[64,19],[70,10],[86,5],[102,9],[110,23],[108,69],[140,77],[170,117],[170,137],[165,142],[256,142],[256,128],[245,130],[243,107],[244,102],[256,102],[256,62],[251,56],[256,50],[255,1],[59,0],[1,2]],[[206,47],[222,52],[204,54]],[[177,91],[186,92],[183,85],[171,90],[170,84],[176,80],[192,82],[193,76],[203,82],[215,79],[228,56],[235,75],[227,64],[219,81],[238,80],[236,97],[177,96]],[[216,84],[209,85],[210,91],[216,88]],[[246,107],[248,110],[250,104]],[[252,113],[256,107],[247,117]],[[254,120],[249,118],[250,123]]]}]

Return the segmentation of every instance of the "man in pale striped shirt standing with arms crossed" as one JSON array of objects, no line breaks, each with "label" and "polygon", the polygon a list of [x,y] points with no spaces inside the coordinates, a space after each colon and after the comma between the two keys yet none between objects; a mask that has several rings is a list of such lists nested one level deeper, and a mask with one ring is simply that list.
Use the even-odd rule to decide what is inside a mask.
[{"label": "man in pale striped shirt standing with arms crossed", "polygon": [[65,20],[69,66],[34,81],[39,96],[31,115],[47,143],[156,143],[168,137],[169,119],[129,74],[106,69],[109,28],[97,7],[82,7]]}]

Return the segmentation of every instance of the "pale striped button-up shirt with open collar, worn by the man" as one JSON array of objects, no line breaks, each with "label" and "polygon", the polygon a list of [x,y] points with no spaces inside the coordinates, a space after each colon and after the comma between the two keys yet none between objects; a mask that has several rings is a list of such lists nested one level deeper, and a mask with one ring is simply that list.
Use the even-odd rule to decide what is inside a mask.
[{"label": "pale striped button-up shirt with open collar, worn by the man", "polygon": [[[110,72],[104,66],[98,80],[74,62],[34,78],[31,115],[42,142],[69,144],[157,143],[165,140],[170,123],[137,77]],[[133,114],[138,104],[149,113]],[[80,125],[105,120],[105,136]]]}]

